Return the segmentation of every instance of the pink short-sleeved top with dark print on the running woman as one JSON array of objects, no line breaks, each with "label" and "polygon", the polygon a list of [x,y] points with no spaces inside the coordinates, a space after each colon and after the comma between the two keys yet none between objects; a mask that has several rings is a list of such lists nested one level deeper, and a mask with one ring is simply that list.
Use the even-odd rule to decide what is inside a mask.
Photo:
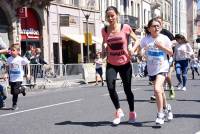
[{"label": "pink short-sleeved top with dark print on the running woman", "polygon": [[128,37],[132,31],[131,27],[123,24],[119,33],[112,34],[102,29],[104,43],[107,43],[107,62],[120,66],[130,62],[130,54],[128,52]]}]

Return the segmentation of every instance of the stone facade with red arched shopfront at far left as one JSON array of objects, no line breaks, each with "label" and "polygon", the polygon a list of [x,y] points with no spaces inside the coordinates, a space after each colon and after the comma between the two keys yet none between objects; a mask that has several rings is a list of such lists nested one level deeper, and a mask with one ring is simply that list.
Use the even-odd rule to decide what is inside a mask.
[{"label": "stone facade with red arched shopfront at far left", "polygon": [[48,44],[43,43],[48,39],[43,8],[37,6],[18,8],[9,1],[1,0],[0,16],[3,18],[0,20],[0,37],[7,47],[12,43],[19,43],[22,55],[29,44],[42,50],[48,47]]}]

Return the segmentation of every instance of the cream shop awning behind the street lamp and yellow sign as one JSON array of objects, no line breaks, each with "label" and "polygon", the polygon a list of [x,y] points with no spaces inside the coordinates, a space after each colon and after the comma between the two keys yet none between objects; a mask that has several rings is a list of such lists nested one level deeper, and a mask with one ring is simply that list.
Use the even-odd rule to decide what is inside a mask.
[{"label": "cream shop awning behind the street lamp and yellow sign", "polygon": [[[65,32],[61,32],[61,37],[64,40],[73,40],[79,44],[85,43],[84,35],[82,34],[69,34]],[[97,36],[92,36],[92,43],[102,43],[102,38]]]}]

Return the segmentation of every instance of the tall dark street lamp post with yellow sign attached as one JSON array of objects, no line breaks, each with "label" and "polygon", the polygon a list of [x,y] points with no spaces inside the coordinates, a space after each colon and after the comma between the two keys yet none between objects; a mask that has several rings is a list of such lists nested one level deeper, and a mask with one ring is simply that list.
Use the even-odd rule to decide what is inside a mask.
[{"label": "tall dark street lamp post with yellow sign attached", "polygon": [[88,27],[88,19],[89,19],[89,17],[90,17],[90,11],[84,11],[83,9],[81,9],[82,10],[82,12],[83,12],[83,15],[85,16],[85,19],[86,19],[86,38],[87,38],[87,42],[85,42],[86,43],[86,45],[87,45],[87,61],[88,61],[88,63],[90,62],[90,53],[89,53],[89,51],[90,51],[90,46],[89,46],[89,27]]}]

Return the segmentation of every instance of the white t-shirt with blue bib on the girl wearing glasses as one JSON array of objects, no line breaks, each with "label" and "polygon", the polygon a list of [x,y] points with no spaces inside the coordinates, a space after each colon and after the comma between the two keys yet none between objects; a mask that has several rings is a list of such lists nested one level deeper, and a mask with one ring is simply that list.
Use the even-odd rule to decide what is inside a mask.
[{"label": "white t-shirt with blue bib on the girl wearing glasses", "polygon": [[[166,47],[172,46],[170,39],[163,34],[159,34],[156,40],[162,41]],[[169,70],[167,53],[156,48],[154,42],[155,39],[148,35],[144,37],[140,43],[141,48],[145,49],[145,55],[147,56],[147,71],[149,76],[154,76],[162,72],[168,72]]]}]

